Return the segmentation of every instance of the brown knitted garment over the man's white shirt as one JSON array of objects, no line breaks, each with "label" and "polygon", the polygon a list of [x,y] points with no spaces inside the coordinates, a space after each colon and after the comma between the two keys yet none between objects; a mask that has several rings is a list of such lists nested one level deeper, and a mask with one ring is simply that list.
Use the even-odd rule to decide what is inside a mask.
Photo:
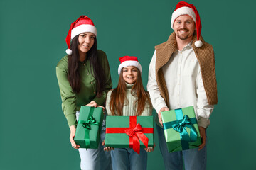
[{"label": "brown knitted garment over the man's white shirt", "polygon": [[[196,35],[193,35],[192,47],[200,64],[203,86],[206,91],[208,103],[210,105],[215,105],[218,102],[218,98],[213,47],[206,43],[202,37],[200,37],[200,40],[203,42],[203,46],[196,47]],[[164,79],[163,70],[161,68],[170,60],[171,55],[177,51],[175,33],[171,33],[169,39],[166,42],[157,45],[155,49],[156,82],[159,86],[161,96],[164,98],[166,105],[169,107],[168,90],[166,81]]]}]

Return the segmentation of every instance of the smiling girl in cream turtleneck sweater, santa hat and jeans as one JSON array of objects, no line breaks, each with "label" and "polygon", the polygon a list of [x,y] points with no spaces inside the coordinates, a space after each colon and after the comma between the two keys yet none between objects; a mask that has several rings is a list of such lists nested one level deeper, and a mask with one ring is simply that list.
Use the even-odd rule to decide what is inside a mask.
[{"label": "smiling girl in cream turtleneck sweater, santa hat and jeans", "polygon": [[[137,57],[124,56],[119,60],[121,64],[118,67],[117,88],[107,93],[106,109],[108,115],[151,115],[151,101],[149,93],[144,90],[142,85],[142,66]],[[141,148],[140,154],[134,152],[132,148],[105,147],[104,149],[105,151],[111,150],[113,169],[146,170],[146,152],[151,152],[154,148]]]}]

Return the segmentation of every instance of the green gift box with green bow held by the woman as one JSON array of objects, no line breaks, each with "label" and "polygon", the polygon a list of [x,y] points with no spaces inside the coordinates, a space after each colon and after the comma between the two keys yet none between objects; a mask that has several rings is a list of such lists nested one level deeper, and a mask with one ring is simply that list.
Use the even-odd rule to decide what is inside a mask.
[{"label": "green gift box with green bow held by the woman", "polygon": [[97,149],[100,142],[102,121],[102,107],[81,106],[74,138],[76,145],[80,145],[80,148]]}]

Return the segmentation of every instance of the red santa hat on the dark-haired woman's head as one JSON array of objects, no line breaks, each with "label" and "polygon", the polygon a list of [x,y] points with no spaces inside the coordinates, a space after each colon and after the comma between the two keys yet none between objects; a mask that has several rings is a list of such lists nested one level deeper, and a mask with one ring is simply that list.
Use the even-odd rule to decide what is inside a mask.
[{"label": "red santa hat on the dark-haired woman's head", "polygon": [[66,42],[68,49],[66,53],[72,55],[72,50],[70,50],[70,41],[80,33],[90,32],[97,36],[97,30],[92,22],[92,20],[87,16],[80,16],[75,22],[71,23],[70,29],[68,30],[68,35],[66,37]]}]

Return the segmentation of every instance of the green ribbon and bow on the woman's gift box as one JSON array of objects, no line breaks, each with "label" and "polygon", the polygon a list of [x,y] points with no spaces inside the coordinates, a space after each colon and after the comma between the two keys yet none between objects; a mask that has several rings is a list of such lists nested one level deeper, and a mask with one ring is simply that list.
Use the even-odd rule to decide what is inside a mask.
[{"label": "green ribbon and bow on the woman's gift box", "polygon": [[93,118],[94,108],[90,109],[90,113],[88,115],[87,120],[79,120],[78,124],[82,124],[82,127],[85,128],[85,148],[90,147],[90,129],[91,125],[98,125],[99,127],[101,126],[100,123],[98,123],[95,118]]}]

